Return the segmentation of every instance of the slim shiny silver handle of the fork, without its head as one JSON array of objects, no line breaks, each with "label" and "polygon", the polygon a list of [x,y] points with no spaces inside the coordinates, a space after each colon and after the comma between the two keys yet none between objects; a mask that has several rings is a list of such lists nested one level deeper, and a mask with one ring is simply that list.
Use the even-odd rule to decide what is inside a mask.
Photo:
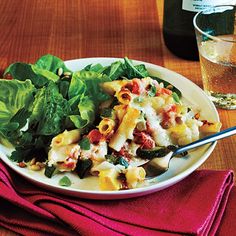
[{"label": "slim shiny silver handle of the fork, without its head", "polygon": [[199,139],[195,142],[189,143],[189,144],[187,144],[183,147],[179,147],[174,151],[173,156],[177,155],[177,154],[180,154],[182,152],[188,151],[190,149],[202,146],[204,144],[211,143],[211,142],[214,142],[216,140],[229,137],[229,136],[234,135],[234,134],[236,134],[236,126],[233,126],[231,128],[222,130],[222,131],[217,132],[215,134],[206,136],[206,137],[204,137],[202,139]]}]

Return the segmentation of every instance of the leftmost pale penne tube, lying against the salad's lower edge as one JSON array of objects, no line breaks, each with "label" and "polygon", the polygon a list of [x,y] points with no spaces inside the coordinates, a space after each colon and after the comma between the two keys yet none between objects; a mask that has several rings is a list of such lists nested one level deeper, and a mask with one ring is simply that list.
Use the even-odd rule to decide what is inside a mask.
[{"label": "leftmost pale penne tube, lying against the salad's lower edge", "polygon": [[58,134],[56,137],[52,139],[51,147],[61,147],[69,145],[78,142],[79,139],[80,139],[79,129],[74,129],[70,131],[65,130],[63,133]]}]

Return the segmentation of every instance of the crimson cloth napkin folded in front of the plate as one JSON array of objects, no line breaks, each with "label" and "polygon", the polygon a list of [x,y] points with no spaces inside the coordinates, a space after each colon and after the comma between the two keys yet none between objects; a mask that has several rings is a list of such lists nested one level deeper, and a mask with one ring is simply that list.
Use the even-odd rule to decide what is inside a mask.
[{"label": "crimson cloth napkin folded in front of the plate", "polygon": [[23,235],[214,235],[217,229],[235,232],[231,220],[236,219],[235,190],[222,221],[232,186],[232,171],[202,170],[144,197],[86,200],[43,190],[0,162],[0,225]]}]

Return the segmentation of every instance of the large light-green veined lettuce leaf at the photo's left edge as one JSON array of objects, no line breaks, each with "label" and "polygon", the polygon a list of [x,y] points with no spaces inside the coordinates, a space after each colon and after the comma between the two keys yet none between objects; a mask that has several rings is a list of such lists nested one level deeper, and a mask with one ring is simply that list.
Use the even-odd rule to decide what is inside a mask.
[{"label": "large light-green veined lettuce leaf at the photo's left edge", "polygon": [[35,87],[30,80],[0,80],[0,136],[15,142],[31,112]]}]

